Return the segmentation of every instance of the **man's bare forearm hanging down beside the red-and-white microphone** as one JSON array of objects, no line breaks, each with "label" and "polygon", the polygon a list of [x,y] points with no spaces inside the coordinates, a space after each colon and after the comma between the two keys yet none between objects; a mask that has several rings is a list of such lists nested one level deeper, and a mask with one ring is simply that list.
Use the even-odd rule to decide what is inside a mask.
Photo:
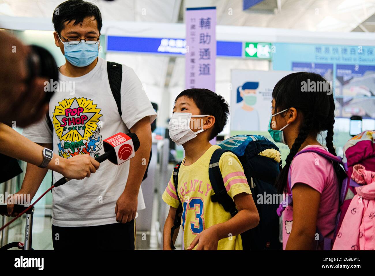
[{"label": "man's bare forearm hanging down beside the red-and-white microphone", "polygon": [[139,187],[147,168],[151,152],[151,132],[136,131],[140,145],[135,152],[135,157],[130,159],[129,175],[125,186],[125,192],[138,195]]}]

